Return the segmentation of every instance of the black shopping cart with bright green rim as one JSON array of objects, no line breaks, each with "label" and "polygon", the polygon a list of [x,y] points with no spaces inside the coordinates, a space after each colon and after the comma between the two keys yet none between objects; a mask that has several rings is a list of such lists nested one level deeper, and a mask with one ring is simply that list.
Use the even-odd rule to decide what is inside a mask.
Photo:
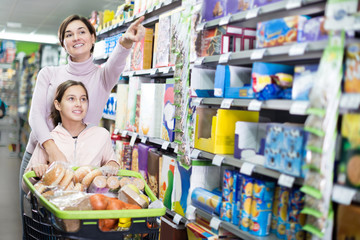
[{"label": "black shopping cart with bright green rim", "polygon": [[[134,171],[120,170],[118,175],[136,177],[144,181],[142,175]],[[27,172],[23,176],[25,184],[30,189],[29,200],[31,205],[31,214],[29,214],[31,216],[23,215],[26,239],[159,239],[158,218],[165,215],[165,207],[132,210],[60,210],[35,190],[29,180],[32,177],[36,177],[33,171]],[[157,200],[146,183],[144,191],[151,201]],[[124,231],[108,232],[99,229],[99,219],[116,218],[131,218],[130,228]],[[76,230],[66,231],[61,224],[63,221],[75,224]]]}]

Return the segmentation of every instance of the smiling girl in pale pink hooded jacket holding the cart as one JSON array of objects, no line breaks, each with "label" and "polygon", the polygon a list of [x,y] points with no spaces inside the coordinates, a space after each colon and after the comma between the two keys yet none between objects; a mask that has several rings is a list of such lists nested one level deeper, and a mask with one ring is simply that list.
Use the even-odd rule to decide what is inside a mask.
[{"label": "smiling girl in pale pink hooded jacket holding the cart", "polygon": [[[50,135],[71,166],[104,166],[107,175],[116,175],[116,161],[109,132],[102,127],[86,124],[88,93],[81,82],[68,80],[59,85],[50,118],[56,126]],[[49,156],[37,144],[25,170],[42,177],[49,166]]]}]

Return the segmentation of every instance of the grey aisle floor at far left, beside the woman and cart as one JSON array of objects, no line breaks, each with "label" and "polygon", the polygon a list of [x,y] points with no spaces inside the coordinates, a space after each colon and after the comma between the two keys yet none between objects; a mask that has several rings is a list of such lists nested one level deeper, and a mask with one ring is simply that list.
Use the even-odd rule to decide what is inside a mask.
[{"label": "grey aisle floor at far left, beside the woman and cart", "polygon": [[22,235],[19,210],[20,158],[0,146],[0,240],[20,240]]}]

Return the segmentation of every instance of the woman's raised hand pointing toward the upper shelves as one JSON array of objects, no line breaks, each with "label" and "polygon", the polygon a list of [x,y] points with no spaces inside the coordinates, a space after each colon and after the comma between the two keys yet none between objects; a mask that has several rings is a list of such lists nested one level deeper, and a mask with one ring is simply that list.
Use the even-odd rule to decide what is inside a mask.
[{"label": "woman's raised hand pointing toward the upper shelves", "polygon": [[119,42],[124,48],[131,48],[134,42],[142,40],[145,36],[145,28],[141,23],[144,21],[145,17],[141,16],[138,20],[133,22],[124,35],[120,38]]}]

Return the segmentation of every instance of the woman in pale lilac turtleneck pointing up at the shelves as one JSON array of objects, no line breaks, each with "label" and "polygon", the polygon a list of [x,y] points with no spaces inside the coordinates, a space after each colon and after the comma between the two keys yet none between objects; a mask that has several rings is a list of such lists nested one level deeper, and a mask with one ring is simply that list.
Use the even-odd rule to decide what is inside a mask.
[{"label": "woman in pale lilac turtleneck pointing up at the shelves", "polygon": [[[66,161],[66,157],[56,146],[50,135],[54,128],[48,119],[56,88],[65,80],[73,79],[82,82],[89,93],[91,103],[85,122],[98,125],[102,111],[110,91],[116,85],[124,69],[126,57],[134,42],[140,41],[145,35],[141,25],[144,17],[132,23],[119,39],[114,51],[104,68],[98,68],[93,63],[92,52],[96,40],[96,31],[89,21],[78,15],[67,17],[60,25],[58,36],[61,46],[68,53],[68,64],[57,67],[45,67],[40,70],[29,114],[29,124],[32,129],[26,146],[21,166],[20,184],[25,168],[31,158],[37,143],[49,155],[49,162]],[[20,204],[23,209],[24,192],[20,185]]]}]

